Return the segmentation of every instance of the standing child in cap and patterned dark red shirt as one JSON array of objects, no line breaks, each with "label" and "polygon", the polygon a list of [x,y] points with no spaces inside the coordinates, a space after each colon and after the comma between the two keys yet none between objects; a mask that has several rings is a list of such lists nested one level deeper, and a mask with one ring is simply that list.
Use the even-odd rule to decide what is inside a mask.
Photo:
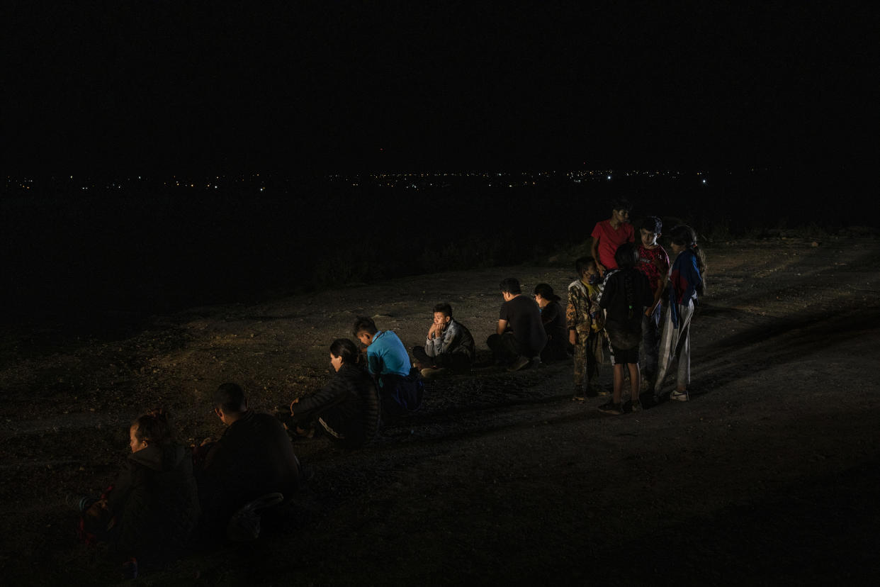
[{"label": "standing child in cap and patterned dark red shirt", "polygon": [[642,359],[642,391],[648,389],[654,381],[657,354],[660,350],[660,314],[663,310],[661,298],[666,274],[669,273],[669,255],[657,242],[662,230],[663,221],[657,216],[648,216],[642,220],[639,229],[642,244],[639,245],[639,263],[636,268],[648,278],[651,293],[654,294],[654,304],[645,310],[642,318],[642,352],[639,354]]}]

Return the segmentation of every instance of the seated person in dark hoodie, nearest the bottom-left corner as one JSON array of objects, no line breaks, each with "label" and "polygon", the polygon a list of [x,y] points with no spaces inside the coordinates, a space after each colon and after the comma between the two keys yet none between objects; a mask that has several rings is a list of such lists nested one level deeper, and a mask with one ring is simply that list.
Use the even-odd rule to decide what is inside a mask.
[{"label": "seated person in dark hoodie, nearest the bottom-left corner", "polygon": [[165,411],[154,409],[128,429],[131,454],[101,499],[84,511],[81,530],[109,543],[110,554],[140,569],[180,554],[199,519],[190,451],[173,442]]}]

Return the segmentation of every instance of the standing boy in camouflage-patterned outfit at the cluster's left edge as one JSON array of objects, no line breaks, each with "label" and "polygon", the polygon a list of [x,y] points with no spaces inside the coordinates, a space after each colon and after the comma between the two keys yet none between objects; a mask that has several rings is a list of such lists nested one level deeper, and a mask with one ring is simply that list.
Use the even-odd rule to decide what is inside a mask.
[{"label": "standing boy in camouflage-patterned outfit at the cluster's left edge", "polygon": [[584,398],[584,371],[587,375],[587,394],[607,395],[596,383],[599,365],[605,360],[605,339],[602,334],[605,319],[602,312],[598,312],[599,272],[596,261],[581,257],[575,261],[575,268],[580,279],[568,284],[565,321],[568,342],[575,348],[574,399],[581,401]]}]

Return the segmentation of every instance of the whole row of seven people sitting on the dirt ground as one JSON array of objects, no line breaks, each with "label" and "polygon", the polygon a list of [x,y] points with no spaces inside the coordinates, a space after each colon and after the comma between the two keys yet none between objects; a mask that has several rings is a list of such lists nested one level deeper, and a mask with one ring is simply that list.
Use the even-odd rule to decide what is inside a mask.
[{"label": "whole row of seven people sitting on the dirt ground", "polygon": [[[539,284],[534,300],[521,295],[514,278],[501,289],[502,318],[488,339],[496,362],[512,370],[541,357],[564,357],[565,315],[553,289]],[[224,434],[191,450],[175,442],[163,409],[138,417],[128,430],[131,454],[114,484],[77,504],[81,538],[105,542],[129,576],[132,561],[141,569],[167,561],[194,532],[205,543],[253,539],[260,510],[282,507],[300,485],[291,436],[312,437],[320,428],[342,446],[362,446],[381,422],[421,406],[423,378],[468,371],[476,356],[473,336],[446,303],[434,307],[425,345],[412,349],[414,359],[397,334],[379,330],[370,318],[358,317],[352,334],[365,352],[349,339],[333,341],[334,378],[293,400],[289,415],[253,411],[244,390],[225,383],[212,405]]]}]

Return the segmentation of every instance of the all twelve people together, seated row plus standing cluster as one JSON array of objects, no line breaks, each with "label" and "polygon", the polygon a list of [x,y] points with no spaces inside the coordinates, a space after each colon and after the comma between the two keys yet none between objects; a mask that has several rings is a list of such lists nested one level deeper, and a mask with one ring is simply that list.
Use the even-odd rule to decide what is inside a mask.
[{"label": "all twelve people together, seated row plus standing cluster", "polygon": [[[670,399],[689,399],[690,325],[706,272],[693,229],[671,230],[676,257],[670,265],[658,242],[660,218],[642,221],[636,245],[629,212],[628,202],[613,202],[612,216],[596,224],[592,256],[576,260],[578,278],[568,285],[564,309],[549,284],[535,286],[532,299],[516,278],[504,279],[497,327],[486,341],[494,363],[509,371],[570,354],[575,400],[609,394],[598,385],[608,352],[612,397],[598,407],[608,414],[641,410],[640,393],[650,388],[659,401],[673,361],[677,385]],[[108,542],[129,567],[136,558],[167,558],[197,528],[253,538],[259,533],[258,512],[289,502],[299,487],[302,473],[290,437],[312,437],[322,429],[345,447],[362,446],[382,422],[421,407],[424,379],[466,372],[476,358],[473,335],[453,319],[447,303],[434,306],[425,344],[412,349],[414,358],[397,334],[378,329],[370,318],[358,317],[352,334],[364,349],[347,338],[335,340],[329,349],[334,378],[293,400],[290,414],[254,412],[242,388],[227,383],[213,402],[226,425],[223,436],[192,451],[174,442],[161,409],[132,422],[131,455],[114,485],[79,502],[82,537]]]}]

